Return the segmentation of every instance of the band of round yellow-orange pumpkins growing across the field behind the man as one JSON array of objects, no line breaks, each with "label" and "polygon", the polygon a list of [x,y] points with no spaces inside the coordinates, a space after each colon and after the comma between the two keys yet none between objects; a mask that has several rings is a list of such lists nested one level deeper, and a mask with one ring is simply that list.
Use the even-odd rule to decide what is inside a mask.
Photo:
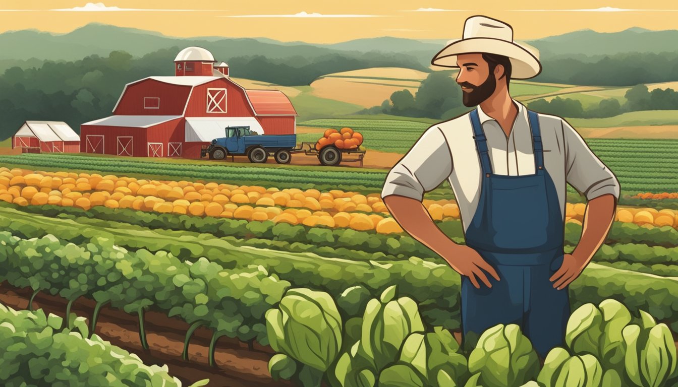
[{"label": "band of round yellow-orange pumpkins growing across the field behind the man", "polygon": [[[62,205],[89,209],[96,205],[161,213],[188,213],[246,220],[273,220],[308,226],[351,227],[402,232],[378,193],[237,186],[216,182],[157,181],[125,176],[45,172],[0,167],[0,200],[18,205]],[[454,201],[424,200],[434,220],[459,219]],[[567,203],[565,221],[581,224],[584,203]],[[673,226],[678,211],[619,207],[616,221]]]}]

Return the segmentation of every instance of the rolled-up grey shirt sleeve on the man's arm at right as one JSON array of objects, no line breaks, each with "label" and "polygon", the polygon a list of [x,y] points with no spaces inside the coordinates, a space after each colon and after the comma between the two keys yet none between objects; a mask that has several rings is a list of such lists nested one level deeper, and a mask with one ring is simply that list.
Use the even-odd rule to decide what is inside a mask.
[{"label": "rolled-up grey shirt sleeve on the man's arm at right", "polygon": [[605,194],[612,194],[619,199],[620,184],[614,173],[600,161],[569,123],[565,120],[561,122],[565,136],[565,180],[582,192],[586,200]]}]

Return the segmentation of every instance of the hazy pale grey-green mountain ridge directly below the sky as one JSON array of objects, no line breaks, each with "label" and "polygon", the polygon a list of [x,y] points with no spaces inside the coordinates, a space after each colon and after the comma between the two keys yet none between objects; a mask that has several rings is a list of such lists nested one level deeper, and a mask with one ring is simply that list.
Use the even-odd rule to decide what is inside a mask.
[{"label": "hazy pale grey-green mountain ridge directly below the sky", "polygon": [[[458,36],[451,36],[456,39]],[[78,60],[97,54],[108,56],[111,51],[124,50],[140,57],[158,49],[189,45],[210,49],[216,60],[228,61],[235,56],[263,55],[267,58],[300,60],[327,54],[360,55],[379,51],[387,54],[408,55],[417,58],[422,67],[428,67],[431,58],[450,39],[403,39],[376,37],[354,39],[341,43],[317,44],[302,41],[282,42],[266,37],[168,37],[161,33],[91,23],[66,34],[45,33],[38,30],[9,31],[0,34],[0,70],[7,68],[7,60]],[[527,43],[540,50],[542,60],[566,57],[587,61],[599,60],[605,55],[625,52],[676,52],[678,30],[652,31],[629,28],[618,33],[597,33],[578,30],[572,33],[534,39]],[[292,59],[294,58],[294,59]]]}]

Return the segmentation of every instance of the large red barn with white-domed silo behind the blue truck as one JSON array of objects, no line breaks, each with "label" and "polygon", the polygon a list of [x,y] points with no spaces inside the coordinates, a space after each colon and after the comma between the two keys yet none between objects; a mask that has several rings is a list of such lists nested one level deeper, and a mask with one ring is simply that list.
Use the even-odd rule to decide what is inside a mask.
[{"label": "large red barn with white-domed silo behind the blue truck", "polygon": [[215,62],[206,49],[188,47],[174,60],[174,77],[127,83],[111,117],[81,125],[80,151],[199,158],[226,126],[296,134],[298,114],[282,91],[245,89],[228,76],[227,64]]}]

